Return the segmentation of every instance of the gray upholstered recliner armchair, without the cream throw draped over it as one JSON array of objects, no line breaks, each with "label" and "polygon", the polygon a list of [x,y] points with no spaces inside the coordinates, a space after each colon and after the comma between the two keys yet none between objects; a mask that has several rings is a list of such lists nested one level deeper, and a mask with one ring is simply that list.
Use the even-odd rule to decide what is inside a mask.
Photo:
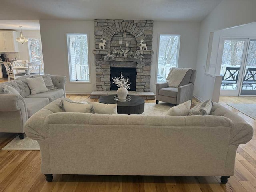
[{"label": "gray upholstered recliner armchair, without the cream throw draped over it", "polygon": [[189,69],[178,88],[168,87],[168,83],[156,84],[156,104],[164,101],[172,104],[181,104],[192,100],[196,70]]}]

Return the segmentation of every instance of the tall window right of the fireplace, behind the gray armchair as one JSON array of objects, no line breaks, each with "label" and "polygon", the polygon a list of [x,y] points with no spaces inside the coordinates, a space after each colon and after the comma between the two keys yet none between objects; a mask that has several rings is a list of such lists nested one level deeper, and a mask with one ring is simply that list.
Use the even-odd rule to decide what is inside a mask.
[{"label": "tall window right of the fireplace, behind the gray armchair", "polygon": [[157,82],[165,82],[170,68],[178,66],[180,35],[160,35],[158,42]]}]

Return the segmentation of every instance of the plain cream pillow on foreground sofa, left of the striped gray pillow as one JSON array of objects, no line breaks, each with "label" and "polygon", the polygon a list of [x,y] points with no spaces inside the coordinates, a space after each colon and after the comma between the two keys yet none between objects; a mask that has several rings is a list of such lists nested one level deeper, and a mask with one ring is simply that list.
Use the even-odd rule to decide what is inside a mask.
[{"label": "plain cream pillow on foreground sofa, left of the striped gray pillow", "polygon": [[171,116],[187,116],[191,107],[191,100],[188,100],[182,104],[174,106],[168,110],[166,115]]}]

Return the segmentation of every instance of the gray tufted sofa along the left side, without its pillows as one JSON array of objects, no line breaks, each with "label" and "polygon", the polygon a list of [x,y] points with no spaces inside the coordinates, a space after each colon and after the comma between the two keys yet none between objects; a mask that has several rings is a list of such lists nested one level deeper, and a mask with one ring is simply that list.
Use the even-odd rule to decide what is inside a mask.
[{"label": "gray tufted sofa along the left side, without its pillows", "polygon": [[0,94],[0,132],[19,133],[24,138],[24,125],[34,113],[50,102],[65,97],[65,76],[51,76],[56,87],[48,92],[31,95],[26,82],[30,75],[0,84],[12,94]]}]

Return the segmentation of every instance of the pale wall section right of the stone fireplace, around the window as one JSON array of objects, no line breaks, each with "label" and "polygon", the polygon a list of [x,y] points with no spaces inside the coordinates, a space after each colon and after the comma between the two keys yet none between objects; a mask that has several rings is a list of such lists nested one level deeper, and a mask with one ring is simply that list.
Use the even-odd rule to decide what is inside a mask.
[{"label": "pale wall section right of the stone fireplace, around the window", "polygon": [[180,52],[178,67],[196,69],[196,56],[199,41],[199,22],[158,22],[154,21],[153,27],[153,44],[151,69],[151,91],[156,92],[156,73],[157,73],[157,56],[158,56],[158,36],[160,34],[180,35]]}]

